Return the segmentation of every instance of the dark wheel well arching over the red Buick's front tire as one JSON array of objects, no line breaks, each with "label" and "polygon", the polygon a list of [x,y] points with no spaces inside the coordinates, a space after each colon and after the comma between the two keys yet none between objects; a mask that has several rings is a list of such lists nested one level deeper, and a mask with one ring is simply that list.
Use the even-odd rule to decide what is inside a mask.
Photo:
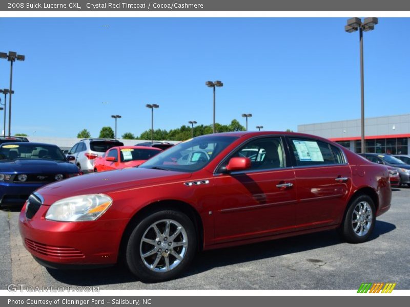
[{"label": "dark wheel well arching over the red Buick's front tire", "polygon": [[188,217],[191,219],[192,223],[194,223],[194,228],[195,228],[197,239],[198,239],[198,251],[202,249],[203,225],[202,225],[202,220],[201,220],[201,217],[198,211],[196,211],[191,205],[185,202],[182,202],[182,201],[163,200],[163,201],[149,204],[148,206],[145,206],[144,208],[142,208],[141,210],[137,211],[134,214],[134,216],[128,222],[124,230],[124,233],[122,233],[121,243],[119,246],[119,258],[122,258],[124,256],[124,251],[127,245],[128,237],[131,234],[132,230],[135,228],[135,226],[140,221],[142,221],[146,216],[152,213],[154,210],[160,210],[160,209],[167,209],[167,210],[173,209],[173,210],[181,211],[187,214]]}]

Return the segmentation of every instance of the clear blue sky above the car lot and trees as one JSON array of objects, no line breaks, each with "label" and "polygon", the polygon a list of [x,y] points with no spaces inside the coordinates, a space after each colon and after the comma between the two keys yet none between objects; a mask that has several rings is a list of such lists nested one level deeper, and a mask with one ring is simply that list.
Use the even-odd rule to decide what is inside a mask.
[{"label": "clear blue sky above the car lot and trees", "polygon": [[[347,16],[349,17],[349,16]],[[359,34],[346,18],[1,18],[13,70],[12,134],[75,137],[101,127],[139,135],[196,120],[250,129],[360,117]],[[366,117],[409,113],[410,18],[379,18],[364,33]],[[0,60],[0,88],[10,64]],[[4,96],[1,96],[2,100]],[[0,114],[3,127],[3,114]],[[1,129],[0,129],[1,130]]]}]

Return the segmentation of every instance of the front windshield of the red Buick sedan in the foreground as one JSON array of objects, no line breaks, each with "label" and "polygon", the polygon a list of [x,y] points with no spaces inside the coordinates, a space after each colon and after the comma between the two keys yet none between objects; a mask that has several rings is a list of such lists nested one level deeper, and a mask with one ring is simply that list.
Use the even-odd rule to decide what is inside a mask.
[{"label": "front windshield of the red Buick sedan in the foreground", "polygon": [[182,172],[197,171],[211,162],[219,152],[237,137],[204,136],[175,145],[141,164],[140,168],[155,168]]}]

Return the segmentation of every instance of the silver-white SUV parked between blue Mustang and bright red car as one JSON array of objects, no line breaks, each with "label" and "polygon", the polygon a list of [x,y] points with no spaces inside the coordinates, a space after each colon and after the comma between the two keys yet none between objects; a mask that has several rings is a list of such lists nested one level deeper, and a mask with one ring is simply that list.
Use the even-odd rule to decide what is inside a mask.
[{"label": "silver-white SUV parked between blue Mustang and bright red car", "polygon": [[84,173],[94,171],[94,160],[103,156],[111,147],[124,146],[124,143],[112,139],[83,139],[76,143],[67,156],[73,156],[70,161],[78,166]]}]

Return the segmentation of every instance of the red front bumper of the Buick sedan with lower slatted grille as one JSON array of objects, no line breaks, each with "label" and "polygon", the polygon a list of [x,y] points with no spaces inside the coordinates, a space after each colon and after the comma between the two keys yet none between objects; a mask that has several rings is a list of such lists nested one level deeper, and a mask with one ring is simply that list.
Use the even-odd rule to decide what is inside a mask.
[{"label": "red front bumper of the Buick sedan with lower slatted grille", "polygon": [[[39,262],[58,265],[111,265],[117,262],[122,233],[128,220],[55,222],[45,219],[42,205],[29,219],[26,205],[19,215],[19,230],[26,249]],[[48,265],[49,267],[51,265]]]}]

